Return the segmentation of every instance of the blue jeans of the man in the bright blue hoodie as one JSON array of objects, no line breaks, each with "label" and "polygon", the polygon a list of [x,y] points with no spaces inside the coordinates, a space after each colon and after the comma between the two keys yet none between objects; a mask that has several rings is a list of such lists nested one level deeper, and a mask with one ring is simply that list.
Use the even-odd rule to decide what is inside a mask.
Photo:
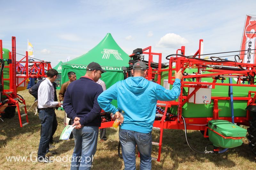
[{"label": "blue jeans of the man in the bright blue hoodie", "polygon": [[135,170],[136,157],[135,147],[137,144],[140,152],[140,170],[151,169],[151,150],[152,134],[140,133],[132,130],[121,129],[119,131],[119,140],[122,146],[122,155],[124,159],[124,168]]}]

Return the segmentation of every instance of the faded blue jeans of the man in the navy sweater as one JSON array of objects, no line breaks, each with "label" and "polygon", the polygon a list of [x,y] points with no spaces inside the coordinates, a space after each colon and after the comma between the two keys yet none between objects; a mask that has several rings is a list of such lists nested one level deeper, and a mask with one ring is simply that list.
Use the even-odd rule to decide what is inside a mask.
[{"label": "faded blue jeans of the man in the navy sweater", "polygon": [[97,148],[99,127],[83,126],[73,129],[75,148],[70,169],[91,169],[93,156]]}]

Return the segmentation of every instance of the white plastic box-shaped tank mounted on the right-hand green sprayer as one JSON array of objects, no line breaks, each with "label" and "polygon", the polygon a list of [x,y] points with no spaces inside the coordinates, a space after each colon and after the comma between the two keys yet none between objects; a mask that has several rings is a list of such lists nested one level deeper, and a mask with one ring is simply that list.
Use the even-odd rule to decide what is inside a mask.
[{"label": "white plastic box-shaped tank mounted on the right-hand green sprayer", "polygon": [[[195,90],[194,87],[189,87],[188,89],[188,95]],[[189,103],[195,103],[195,104],[209,104],[211,103],[212,98],[212,86],[209,85],[207,88],[200,88],[197,90],[196,94],[191,96],[191,98],[188,100]]]}]

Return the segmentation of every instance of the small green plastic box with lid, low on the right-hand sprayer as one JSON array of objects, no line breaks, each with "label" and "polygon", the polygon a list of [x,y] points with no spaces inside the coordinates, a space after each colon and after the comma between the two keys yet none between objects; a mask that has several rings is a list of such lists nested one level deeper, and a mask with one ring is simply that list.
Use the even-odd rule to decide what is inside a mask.
[{"label": "small green plastic box with lid, low on the right-hand sprayer", "polygon": [[242,138],[246,136],[247,130],[225,120],[212,120],[208,127],[224,137],[241,137],[241,139],[225,139],[216,132],[208,129],[209,140],[214,146],[222,148],[234,148],[242,145]]}]

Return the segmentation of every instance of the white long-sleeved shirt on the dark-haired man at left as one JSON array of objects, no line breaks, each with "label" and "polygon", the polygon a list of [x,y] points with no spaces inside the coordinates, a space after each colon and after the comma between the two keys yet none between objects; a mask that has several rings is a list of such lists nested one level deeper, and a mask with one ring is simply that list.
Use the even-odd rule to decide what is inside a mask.
[{"label": "white long-sleeved shirt on the dark-haired man at left", "polygon": [[55,107],[59,102],[54,101],[54,87],[46,78],[38,88],[38,108]]}]

